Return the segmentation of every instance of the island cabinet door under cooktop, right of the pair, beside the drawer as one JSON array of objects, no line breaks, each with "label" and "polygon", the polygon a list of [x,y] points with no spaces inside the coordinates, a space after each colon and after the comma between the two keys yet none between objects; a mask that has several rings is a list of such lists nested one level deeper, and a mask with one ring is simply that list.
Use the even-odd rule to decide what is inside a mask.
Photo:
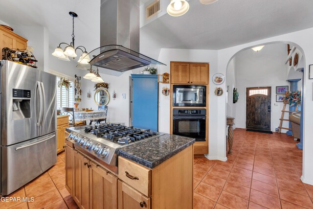
[{"label": "island cabinet door under cooktop, right of the pair, beside the drawer", "polygon": [[90,162],[90,209],[117,209],[117,177]]}]

